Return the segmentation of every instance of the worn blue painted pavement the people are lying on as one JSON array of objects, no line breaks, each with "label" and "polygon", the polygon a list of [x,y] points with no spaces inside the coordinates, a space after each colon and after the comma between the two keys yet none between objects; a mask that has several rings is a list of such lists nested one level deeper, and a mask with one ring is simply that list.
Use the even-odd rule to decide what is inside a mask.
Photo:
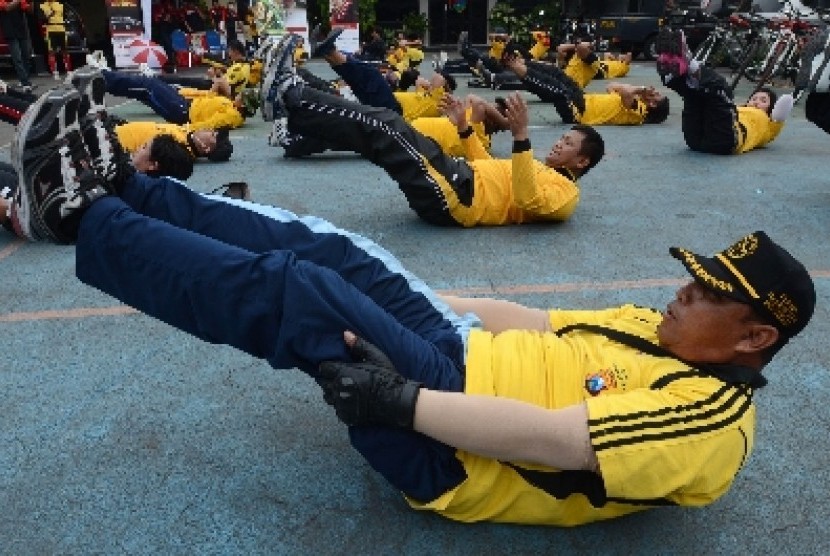
[{"label": "worn blue painted pavement the people are lying on", "polygon": [[[659,83],[646,63],[624,81]],[[743,85],[737,98],[747,93]],[[712,253],[766,230],[811,271],[818,304],[766,371],[756,449],[721,500],[576,529],[414,512],[349,448],[310,379],[194,340],[80,284],[71,247],[6,234],[0,553],[830,553],[830,136],[797,106],[766,149],[693,153],[670,96],[664,124],[601,130],[606,159],[582,179],[581,204],[564,224],[430,227],[354,155],[283,159],[266,146],[258,116],[232,133],[232,161],[198,164],[190,184],[209,191],[244,179],[255,201],[364,234],[438,290],[540,307],[664,307],[687,278],[669,246]],[[113,110],[152,118],[135,103]],[[531,100],[531,110],[539,157],[568,126],[548,105]],[[498,136],[494,152],[509,151],[509,137]],[[8,155],[6,147],[0,157]]]}]

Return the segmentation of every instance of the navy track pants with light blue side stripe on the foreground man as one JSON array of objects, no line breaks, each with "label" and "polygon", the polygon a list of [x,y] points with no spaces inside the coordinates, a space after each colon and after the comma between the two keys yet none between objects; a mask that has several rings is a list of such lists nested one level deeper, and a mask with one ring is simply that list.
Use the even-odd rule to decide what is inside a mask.
[{"label": "navy track pants with light blue side stripe on the foreground man", "polygon": [[[344,330],[407,377],[463,390],[468,323],[391,255],[319,219],[194,193],[136,174],[93,203],[78,278],[204,341],[315,374],[347,360]],[[352,445],[396,488],[431,500],[461,482],[454,449],[408,430],[352,427]]]}]

